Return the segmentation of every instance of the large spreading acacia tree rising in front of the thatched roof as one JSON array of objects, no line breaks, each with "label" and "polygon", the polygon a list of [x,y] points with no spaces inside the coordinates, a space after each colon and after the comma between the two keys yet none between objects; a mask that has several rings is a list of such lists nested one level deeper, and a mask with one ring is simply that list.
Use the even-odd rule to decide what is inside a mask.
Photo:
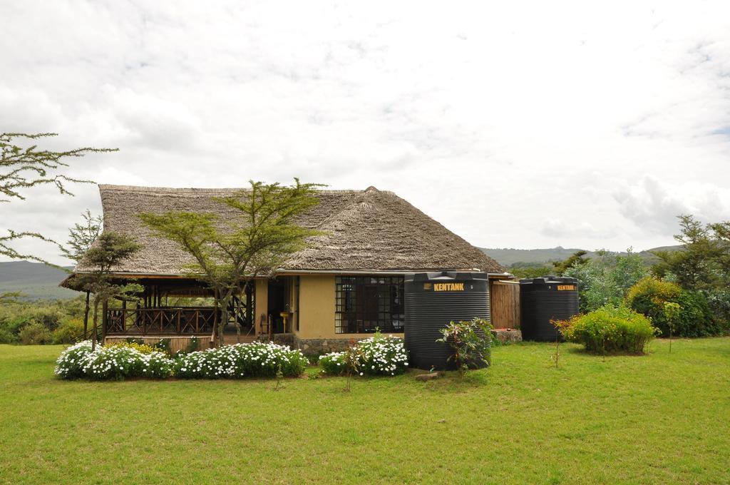
[{"label": "large spreading acacia tree rising in front of the thatched roof", "polygon": [[[210,213],[142,213],[139,218],[153,234],[176,242],[195,261],[189,275],[213,290],[222,312],[218,344],[223,345],[223,329],[228,306],[237,294],[253,284],[254,278],[270,273],[292,253],[306,247],[307,237],[322,234],[296,224],[296,218],[317,205],[321,184],[249,181],[249,188],[226,197],[215,197],[238,215],[220,223]],[[240,336],[241,327],[236,323]]]}]

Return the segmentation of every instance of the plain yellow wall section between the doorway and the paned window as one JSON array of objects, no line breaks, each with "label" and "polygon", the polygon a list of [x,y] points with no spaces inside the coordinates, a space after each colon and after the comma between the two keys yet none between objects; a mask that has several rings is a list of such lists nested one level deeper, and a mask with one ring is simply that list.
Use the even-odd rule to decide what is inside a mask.
[{"label": "plain yellow wall section between the doorway and the paned window", "polygon": [[[258,310],[256,310],[257,313]],[[361,339],[368,334],[334,332],[334,275],[301,275],[299,280],[299,338]]]}]

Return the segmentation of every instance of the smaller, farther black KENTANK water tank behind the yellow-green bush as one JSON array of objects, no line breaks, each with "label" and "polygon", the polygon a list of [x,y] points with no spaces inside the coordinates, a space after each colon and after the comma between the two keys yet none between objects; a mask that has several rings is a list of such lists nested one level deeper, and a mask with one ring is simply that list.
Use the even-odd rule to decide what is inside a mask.
[{"label": "smaller, farther black KENTANK water tank behind the yellow-green bush", "polygon": [[578,313],[578,280],[543,276],[520,280],[522,340],[555,342],[558,331],[550,320],[566,320]]}]

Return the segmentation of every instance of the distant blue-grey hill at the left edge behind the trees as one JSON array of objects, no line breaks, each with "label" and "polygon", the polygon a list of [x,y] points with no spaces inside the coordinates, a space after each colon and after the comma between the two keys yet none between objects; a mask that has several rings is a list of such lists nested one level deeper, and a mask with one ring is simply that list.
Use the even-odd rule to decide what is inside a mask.
[{"label": "distant blue-grey hill at the left edge behind the trees", "polygon": [[61,288],[68,273],[30,261],[0,262],[0,294],[20,291],[26,299],[67,299],[79,293]]}]

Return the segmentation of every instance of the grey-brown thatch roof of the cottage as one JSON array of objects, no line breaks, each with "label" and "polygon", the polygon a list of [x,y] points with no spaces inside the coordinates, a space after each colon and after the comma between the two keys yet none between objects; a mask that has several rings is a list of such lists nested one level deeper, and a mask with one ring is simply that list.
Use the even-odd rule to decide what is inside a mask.
[{"label": "grey-brown thatch roof of the cottage", "polygon": [[[142,212],[217,213],[222,224],[237,215],[214,196],[236,188],[155,188],[99,186],[104,230],[133,237],[142,250],[115,272],[180,275],[191,259],[169,240],[153,236],[137,217]],[[504,268],[396,194],[370,187],[364,191],[320,191],[320,203],[301,216],[302,226],[326,231],[310,248],[293,255],[283,270],[418,271]],[[78,272],[91,270],[83,261]]]}]

